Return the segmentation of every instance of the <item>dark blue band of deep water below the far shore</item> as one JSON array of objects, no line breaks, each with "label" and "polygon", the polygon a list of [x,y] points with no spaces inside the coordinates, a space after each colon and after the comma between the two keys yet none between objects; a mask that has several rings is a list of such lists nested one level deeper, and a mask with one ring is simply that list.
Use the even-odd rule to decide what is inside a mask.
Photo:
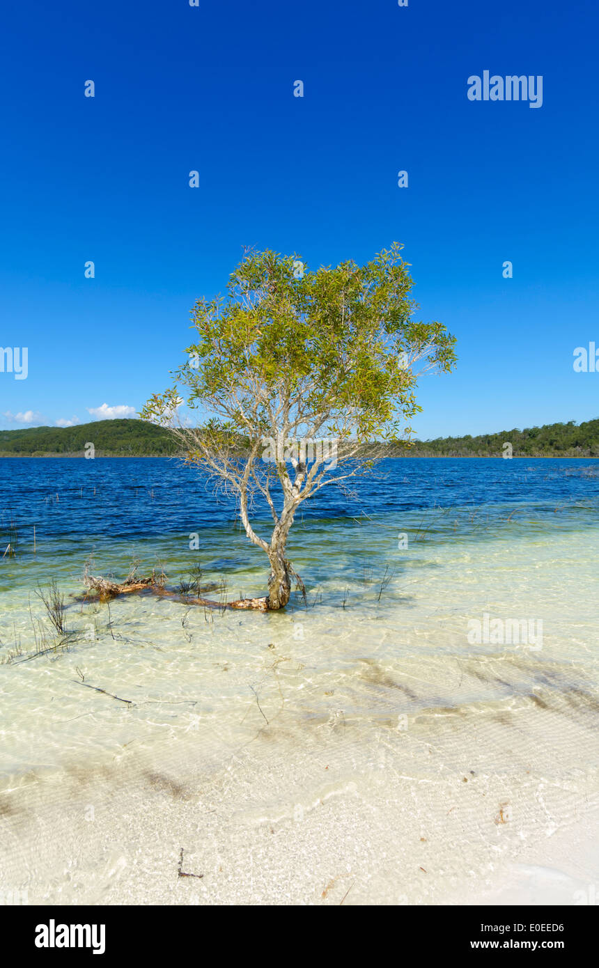
[{"label": "dark blue band of deep water below the far shore", "polygon": [[[425,459],[381,462],[352,482],[355,498],[325,488],[302,506],[308,518],[369,516],[419,508],[526,503],[543,514],[581,502],[599,506],[599,460]],[[215,496],[197,469],[164,458],[2,458],[0,536],[11,517],[18,530],[45,536],[129,538],[227,525],[235,503]]]}]

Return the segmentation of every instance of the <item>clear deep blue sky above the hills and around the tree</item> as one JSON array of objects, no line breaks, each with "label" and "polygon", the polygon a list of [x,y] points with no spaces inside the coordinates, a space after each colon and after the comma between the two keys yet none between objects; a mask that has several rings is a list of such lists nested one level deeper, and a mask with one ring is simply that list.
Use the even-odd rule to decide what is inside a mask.
[{"label": "clear deep blue sky above the hills and around the tree", "polygon": [[[28,375],[0,373],[0,427],[140,408],[245,246],[394,239],[458,337],[419,437],[599,415],[573,370],[599,346],[596,3],[32,0],[2,28],[0,346]],[[543,76],[543,105],[469,101],[485,70]]]}]

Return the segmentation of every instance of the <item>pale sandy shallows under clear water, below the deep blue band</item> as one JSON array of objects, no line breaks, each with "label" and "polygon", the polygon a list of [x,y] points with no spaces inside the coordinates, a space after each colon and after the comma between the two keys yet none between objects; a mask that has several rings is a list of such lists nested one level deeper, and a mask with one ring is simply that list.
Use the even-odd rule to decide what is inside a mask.
[{"label": "pale sandy shallows under clear water, below the deep blue band", "polygon": [[[186,559],[171,535],[56,537],[36,560],[15,558],[1,576],[5,895],[588,902],[596,509],[512,511],[305,522],[291,551],[308,602],[279,614],[145,593],[109,612],[80,600],[90,545],[97,572],[125,562],[126,573],[133,547],[141,571],[158,555],[178,576]],[[229,598],[259,591],[263,562],[238,531],[219,558],[223,528],[202,532],[203,580],[225,574]],[[36,655],[33,589],[50,560],[70,637]],[[498,620],[491,641],[485,616]],[[507,641],[510,620],[524,620],[520,641]]]}]

